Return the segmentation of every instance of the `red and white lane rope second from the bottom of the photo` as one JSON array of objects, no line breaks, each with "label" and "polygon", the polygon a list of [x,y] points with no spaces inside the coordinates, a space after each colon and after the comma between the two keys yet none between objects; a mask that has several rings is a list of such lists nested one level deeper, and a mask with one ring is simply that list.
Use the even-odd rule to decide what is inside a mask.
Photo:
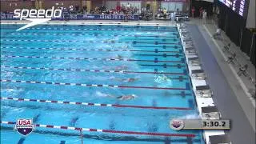
[{"label": "red and white lane rope second from the bottom of the photo", "polygon": [[18,102],[43,102],[43,103],[59,103],[67,105],[82,105],[82,106],[106,106],[115,108],[138,108],[138,109],[155,109],[155,110],[191,110],[187,107],[163,107],[163,106],[132,106],[132,105],[118,105],[118,104],[104,104],[104,103],[91,103],[91,102],[67,102],[67,101],[54,101],[45,99],[29,99],[29,98],[6,98],[0,97],[1,100],[13,100]]}]

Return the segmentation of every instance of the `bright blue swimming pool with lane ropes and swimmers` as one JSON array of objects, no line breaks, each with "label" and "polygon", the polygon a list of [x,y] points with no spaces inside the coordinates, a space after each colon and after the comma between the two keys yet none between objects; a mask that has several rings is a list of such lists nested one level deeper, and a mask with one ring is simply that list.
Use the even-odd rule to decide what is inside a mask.
[{"label": "bright blue swimming pool with lane ropes and swimmers", "polygon": [[203,143],[169,127],[198,115],[175,26],[20,26],[1,25],[1,121],[50,126],[2,123],[1,143],[81,143],[58,126],[89,128],[85,143]]}]

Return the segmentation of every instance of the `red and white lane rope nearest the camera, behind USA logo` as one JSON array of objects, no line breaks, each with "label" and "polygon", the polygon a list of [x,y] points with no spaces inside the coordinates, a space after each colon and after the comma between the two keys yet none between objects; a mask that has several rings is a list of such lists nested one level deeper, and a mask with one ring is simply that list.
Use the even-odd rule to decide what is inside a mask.
[{"label": "red and white lane rope nearest the camera, behind USA logo", "polygon": [[[16,122],[1,121],[1,124],[14,125]],[[190,137],[194,138],[195,134],[169,134],[169,133],[153,133],[153,132],[138,132],[138,131],[123,131],[123,130],[102,130],[102,129],[90,129],[82,127],[71,127],[71,126],[54,126],[54,125],[42,125],[35,124],[37,127],[44,127],[50,129],[62,129],[62,130],[83,130],[90,132],[100,133],[112,133],[112,134],[136,134],[136,135],[150,135],[150,136],[163,136],[163,137]]]}]

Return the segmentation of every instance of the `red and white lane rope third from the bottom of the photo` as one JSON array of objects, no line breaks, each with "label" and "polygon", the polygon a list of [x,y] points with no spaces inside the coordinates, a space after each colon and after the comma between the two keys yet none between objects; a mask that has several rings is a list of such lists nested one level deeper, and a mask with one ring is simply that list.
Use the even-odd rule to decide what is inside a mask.
[{"label": "red and white lane rope third from the bottom of the photo", "polygon": [[174,87],[118,86],[118,85],[68,83],[68,82],[37,82],[37,81],[22,81],[22,80],[10,80],[10,79],[1,79],[0,82],[32,83],[32,84],[46,84],[46,85],[58,85],[58,86],[113,87],[113,88],[127,88],[127,89],[188,90],[187,88],[174,88]]}]

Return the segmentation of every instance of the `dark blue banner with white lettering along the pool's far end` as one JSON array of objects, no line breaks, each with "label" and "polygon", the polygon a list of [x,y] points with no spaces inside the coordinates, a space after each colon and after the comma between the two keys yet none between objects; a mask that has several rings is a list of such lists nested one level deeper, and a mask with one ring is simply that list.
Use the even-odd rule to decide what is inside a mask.
[{"label": "dark blue banner with white lettering along the pool's far end", "polygon": [[[139,15],[124,14],[67,14],[63,13],[62,18],[53,18],[53,20],[132,20],[138,21]],[[1,20],[18,20],[14,14],[1,14]]]}]

